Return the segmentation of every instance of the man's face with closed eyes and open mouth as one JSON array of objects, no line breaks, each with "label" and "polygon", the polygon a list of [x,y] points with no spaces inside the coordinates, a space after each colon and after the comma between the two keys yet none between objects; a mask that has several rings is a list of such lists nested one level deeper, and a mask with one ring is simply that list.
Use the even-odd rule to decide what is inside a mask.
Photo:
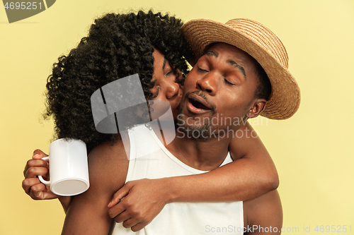
[{"label": "man's face with closed eyes and open mouth", "polygon": [[254,66],[249,54],[232,45],[210,47],[185,78],[178,124],[205,135],[239,128],[257,100]]}]

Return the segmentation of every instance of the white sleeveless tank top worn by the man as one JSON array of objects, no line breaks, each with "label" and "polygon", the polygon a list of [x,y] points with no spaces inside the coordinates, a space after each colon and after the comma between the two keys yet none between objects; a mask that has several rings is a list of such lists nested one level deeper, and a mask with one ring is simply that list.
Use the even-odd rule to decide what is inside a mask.
[{"label": "white sleeveless tank top worn by the man", "polygon": [[[149,126],[140,125],[128,130],[130,162],[126,181],[159,179],[170,176],[201,174],[174,157]],[[142,155],[142,152],[149,152]],[[222,165],[232,162],[227,155]],[[169,203],[144,229],[133,232],[115,224],[113,234],[139,235],[198,235],[243,234],[242,202],[233,203]]]}]

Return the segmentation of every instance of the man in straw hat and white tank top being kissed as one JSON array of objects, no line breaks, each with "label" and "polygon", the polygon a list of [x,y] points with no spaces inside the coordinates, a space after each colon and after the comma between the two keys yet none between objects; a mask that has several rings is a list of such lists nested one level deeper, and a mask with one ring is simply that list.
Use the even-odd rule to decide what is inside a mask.
[{"label": "man in straw hat and white tank top being kissed", "polygon": [[[63,234],[107,234],[112,220],[106,205],[126,178],[154,179],[215,169],[231,161],[229,141],[246,119],[263,110],[263,116],[273,119],[285,119],[297,111],[299,89],[286,69],[286,51],[263,25],[251,20],[230,20],[227,25],[193,20],[182,30],[193,49],[200,49],[200,53],[195,50],[200,59],[185,79],[177,138],[166,148],[152,140],[161,150],[130,162],[121,143],[94,148],[89,157],[91,188],[73,198]],[[263,92],[258,63],[272,84],[268,107],[269,94]],[[138,128],[142,128],[140,133],[154,137],[148,128]],[[114,225],[113,233],[132,232],[122,224]],[[281,225],[280,199],[272,191],[245,203],[169,203],[139,233],[275,234]]]}]

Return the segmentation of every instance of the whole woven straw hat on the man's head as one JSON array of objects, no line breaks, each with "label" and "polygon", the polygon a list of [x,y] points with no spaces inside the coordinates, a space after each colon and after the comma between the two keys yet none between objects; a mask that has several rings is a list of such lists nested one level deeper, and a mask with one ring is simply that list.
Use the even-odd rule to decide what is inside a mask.
[{"label": "whole woven straw hat on the man's head", "polygon": [[194,57],[187,58],[192,66],[214,42],[225,42],[247,52],[265,70],[272,85],[272,93],[262,116],[268,119],[288,119],[297,112],[300,90],[295,78],[287,70],[287,52],[273,32],[249,19],[233,19],[227,23],[213,20],[190,20],[181,32],[193,49]]}]

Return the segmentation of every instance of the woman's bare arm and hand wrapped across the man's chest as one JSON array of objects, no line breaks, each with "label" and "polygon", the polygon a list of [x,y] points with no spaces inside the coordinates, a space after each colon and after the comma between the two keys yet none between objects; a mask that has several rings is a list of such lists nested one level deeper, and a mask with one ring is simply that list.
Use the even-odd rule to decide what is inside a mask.
[{"label": "woman's bare arm and hand wrapped across the man's chest", "polygon": [[[246,123],[240,130],[251,135],[253,128]],[[246,136],[235,137],[229,146],[234,162],[205,174],[127,182],[115,193],[110,216],[116,222],[130,219],[128,225],[137,231],[149,224],[166,203],[249,200],[278,188],[278,173],[263,143],[258,137]],[[125,200],[118,203],[123,197]]]}]

